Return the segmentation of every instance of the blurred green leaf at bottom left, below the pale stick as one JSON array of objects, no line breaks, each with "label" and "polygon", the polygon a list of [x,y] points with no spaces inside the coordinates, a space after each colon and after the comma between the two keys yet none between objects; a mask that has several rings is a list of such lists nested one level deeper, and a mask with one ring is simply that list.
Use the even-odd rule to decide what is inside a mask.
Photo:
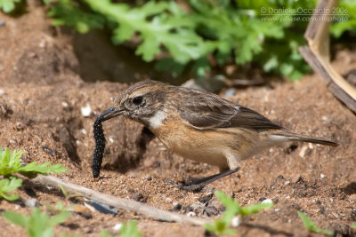
[{"label": "blurred green leaf at bottom left, below the pale stick", "polygon": [[15,225],[25,228],[30,237],[50,237],[53,236],[54,225],[58,225],[67,220],[70,212],[63,211],[55,216],[49,217],[45,212],[35,208],[30,216],[25,216],[12,211],[5,211],[3,217]]}]

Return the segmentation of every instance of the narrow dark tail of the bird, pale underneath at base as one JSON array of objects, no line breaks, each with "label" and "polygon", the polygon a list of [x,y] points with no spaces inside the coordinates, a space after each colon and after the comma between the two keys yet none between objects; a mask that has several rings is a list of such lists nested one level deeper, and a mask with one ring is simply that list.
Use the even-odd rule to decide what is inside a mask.
[{"label": "narrow dark tail of the bird, pale underneath at base", "polygon": [[325,145],[325,146],[338,146],[338,144],[333,141],[303,136],[303,135],[299,135],[299,134],[296,134],[294,132],[290,132],[287,130],[273,133],[270,135],[270,138],[275,141],[293,141],[293,140],[295,140],[295,141],[311,142],[311,143],[316,143],[316,144]]}]

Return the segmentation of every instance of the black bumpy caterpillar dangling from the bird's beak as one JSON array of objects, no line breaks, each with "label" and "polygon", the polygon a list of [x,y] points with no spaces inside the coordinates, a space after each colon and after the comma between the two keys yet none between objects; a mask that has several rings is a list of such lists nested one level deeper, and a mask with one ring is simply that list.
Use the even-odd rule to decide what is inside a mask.
[{"label": "black bumpy caterpillar dangling from the bird's beak", "polygon": [[93,178],[98,178],[101,170],[102,157],[104,156],[105,150],[105,136],[104,130],[102,129],[102,118],[103,116],[98,116],[93,124],[93,133],[95,139],[95,149],[93,154]]}]

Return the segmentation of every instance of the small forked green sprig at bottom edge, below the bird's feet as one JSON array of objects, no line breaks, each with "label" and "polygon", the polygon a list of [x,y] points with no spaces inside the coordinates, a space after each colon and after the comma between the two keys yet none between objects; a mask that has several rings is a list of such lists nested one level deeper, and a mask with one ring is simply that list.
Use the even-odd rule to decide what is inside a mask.
[{"label": "small forked green sprig at bottom edge, below the bird's feet", "polygon": [[229,225],[231,224],[231,220],[233,217],[240,215],[250,216],[258,213],[261,209],[271,208],[273,206],[272,203],[258,203],[255,205],[250,205],[246,207],[241,207],[238,201],[234,201],[231,197],[223,194],[221,191],[216,191],[215,196],[217,199],[222,201],[226,210],[223,212],[223,216],[214,220],[214,224],[207,224],[206,230],[212,233],[222,234],[222,233],[235,233],[235,230],[229,229]]}]

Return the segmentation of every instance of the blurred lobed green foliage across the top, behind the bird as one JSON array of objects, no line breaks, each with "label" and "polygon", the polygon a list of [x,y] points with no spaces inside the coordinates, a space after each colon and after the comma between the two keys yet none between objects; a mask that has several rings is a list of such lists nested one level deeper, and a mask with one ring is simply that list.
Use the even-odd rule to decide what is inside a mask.
[{"label": "blurred lobed green foliage across the top, behind the bird", "polygon": [[[11,12],[20,0],[0,0]],[[172,75],[190,71],[206,76],[212,67],[253,62],[264,72],[291,80],[311,72],[298,47],[305,44],[307,20],[295,20],[301,10],[312,10],[316,0],[186,0],[110,1],[44,0],[54,26],[80,33],[109,28],[113,43],[131,43],[136,55],[157,62],[156,69]],[[273,10],[294,10],[281,14]],[[356,1],[339,1],[332,36],[356,35]],[[265,15],[265,13],[272,14]],[[309,11],[311,12],[311,11]],[[309,13],[308,12],[308,13]],[[263,14],[264,13],[264,14]],[[303,15],[301,17],[306,17]]]}]

